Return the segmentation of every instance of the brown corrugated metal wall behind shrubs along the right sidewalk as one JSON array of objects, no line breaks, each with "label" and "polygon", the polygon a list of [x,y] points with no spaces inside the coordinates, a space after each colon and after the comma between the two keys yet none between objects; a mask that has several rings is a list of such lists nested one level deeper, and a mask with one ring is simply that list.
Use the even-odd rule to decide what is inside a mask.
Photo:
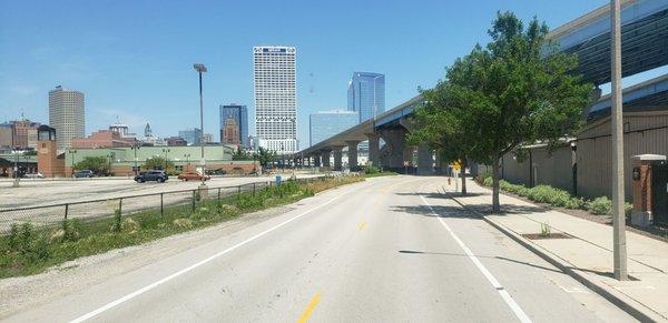
[{"label": "brown corrugated metal wall behind shrubs along the right sidewalk", "polygon": [[[625,193],[631,201],[631,157],[638,154],[668,155],[668,111],[635,112],[623,115],[623,160]],[[599,120],[578,135],[577,149],[577,185],[578,195],[598,198],[612,193],[611,189],[611,143],[610,118]],[[572,151],[570,147],[559,148],[550,154],[546,149],[532,150],[534,165],[534,183],[548,184],[572,192]],[[502,178],[517,184],[530,185],[529,158],[518,162],[512,153],[502,159]],[[491,166],[479,165],[479,172],[489,171]]]}]

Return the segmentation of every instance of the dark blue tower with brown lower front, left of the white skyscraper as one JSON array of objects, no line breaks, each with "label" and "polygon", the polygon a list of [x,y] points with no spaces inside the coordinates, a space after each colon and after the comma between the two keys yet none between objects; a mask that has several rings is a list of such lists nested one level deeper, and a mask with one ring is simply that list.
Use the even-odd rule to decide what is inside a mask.
[{"label": "dark blue tower with brown lower front, left of the white skyscraper", "polygon": [[246,105],[220,105],[220,142],[249,148],[248,110]]}]

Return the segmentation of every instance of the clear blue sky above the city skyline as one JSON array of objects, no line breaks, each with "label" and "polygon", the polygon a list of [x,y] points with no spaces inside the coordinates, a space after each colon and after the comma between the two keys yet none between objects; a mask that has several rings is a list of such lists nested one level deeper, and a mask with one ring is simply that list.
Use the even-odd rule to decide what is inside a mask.
[{"label": "clear blue sky above the city skyline", "polygon": [[[298,132],[308,114],[345,109],[354,71],[386,74],[392,108],[431,87],[444,67],[489,40],[498,10],[550,28],[608,1],[11,1],[0,0],[0,121],[48,122],[48,91],[86,93],[86,132],[116,121],[161,137],[198,127],[204,62],[205,132],[218,139],[218,105],[253,120],[252,48],[297,47]],[[627,85],[627,83],[625,83]],[[254,125],[250,124],[250,133]]]}]

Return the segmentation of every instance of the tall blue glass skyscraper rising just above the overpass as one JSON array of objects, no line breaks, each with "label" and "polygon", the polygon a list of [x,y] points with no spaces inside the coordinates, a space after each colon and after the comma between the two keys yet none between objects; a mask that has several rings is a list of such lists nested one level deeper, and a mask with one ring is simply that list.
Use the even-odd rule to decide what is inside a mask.
[{"label": "tall blue glass skyscraper rising just above the overpass", "polygon": [[364,122],[385,111],[385,75],[354,72],[348,83],[348,110],[360,113]]}]

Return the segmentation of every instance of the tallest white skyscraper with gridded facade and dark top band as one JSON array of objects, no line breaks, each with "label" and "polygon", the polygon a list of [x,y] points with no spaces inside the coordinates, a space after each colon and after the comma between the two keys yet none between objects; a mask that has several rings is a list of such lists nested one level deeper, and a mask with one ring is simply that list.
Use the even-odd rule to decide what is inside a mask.
[{"label": "tallest white skyscraper with gridded facade and dark top band", "polygon": [[298,150],[296,53],[294,47],[253,48],[255,131],[261,147],[278,153]]}]

